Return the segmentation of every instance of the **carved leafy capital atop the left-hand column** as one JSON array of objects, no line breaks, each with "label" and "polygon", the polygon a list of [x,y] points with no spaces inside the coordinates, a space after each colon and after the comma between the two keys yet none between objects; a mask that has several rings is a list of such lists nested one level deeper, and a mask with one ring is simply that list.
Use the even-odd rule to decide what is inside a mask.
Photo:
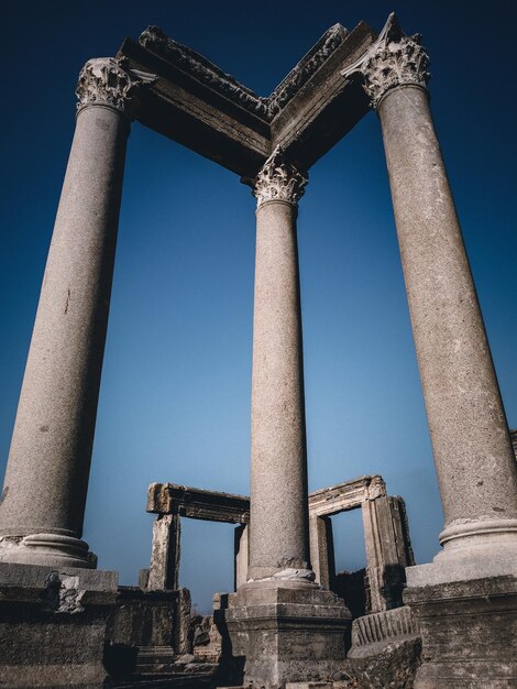
[{"label": "carved leafy capital atop the left-hand column", "polygon": [[85,106],[105,105],[132,116],[139,102],[142,84],[154,81],[154,75],[130,72],[114,57],[89,59],[82,67],[77,83],[77,109]]}]

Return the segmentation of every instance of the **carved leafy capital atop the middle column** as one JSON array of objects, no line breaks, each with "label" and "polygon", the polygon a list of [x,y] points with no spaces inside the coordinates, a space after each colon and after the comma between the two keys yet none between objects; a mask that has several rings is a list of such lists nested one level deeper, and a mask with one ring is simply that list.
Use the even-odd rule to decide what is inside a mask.
[{"label": "carved leafy capital atop the middle column", "polygon": [[267,201],[287,201],[297,206],[307,182],[308,176],[286,163],[282,146],[276,146],[251,186],[257,208]]}]

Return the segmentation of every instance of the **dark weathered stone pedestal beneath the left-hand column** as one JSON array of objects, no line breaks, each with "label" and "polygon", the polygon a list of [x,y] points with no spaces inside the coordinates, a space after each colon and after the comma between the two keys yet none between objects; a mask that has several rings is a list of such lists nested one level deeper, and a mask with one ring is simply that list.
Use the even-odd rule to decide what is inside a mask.
[{"label": "dark weathered stone pedestal beneath the left-hand column", "polygon": [[0,562],[2,687],[100,688],[117,572]]}]

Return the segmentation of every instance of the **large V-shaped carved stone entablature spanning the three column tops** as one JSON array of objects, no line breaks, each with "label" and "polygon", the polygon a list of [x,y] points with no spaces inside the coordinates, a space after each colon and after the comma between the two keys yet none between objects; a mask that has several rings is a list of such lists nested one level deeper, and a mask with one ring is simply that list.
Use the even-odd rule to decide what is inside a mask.
[{"label": "large V-shaped carved stone entablature spanning the three column tops", "polygon": [[156,28],[127,39],[117,58],[155,75],[135,112],[151,129],[243,177],[254,177],[273,149],[307,169],[369,111],[363,89],[340,72],[376,34],[361,22],[330,28],[268,98],[256,96],[216,65]]}]

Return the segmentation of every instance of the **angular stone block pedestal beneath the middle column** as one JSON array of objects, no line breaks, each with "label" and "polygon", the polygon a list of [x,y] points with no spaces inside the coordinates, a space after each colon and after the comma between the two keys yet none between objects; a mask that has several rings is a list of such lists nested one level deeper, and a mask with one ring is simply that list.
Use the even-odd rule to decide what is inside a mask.
[{"label": "angular stone block pedestal beneath the middle column", "polygon": [[334,593],[286,581],[248,583],[220,613],[246,687],[280,689],[339,677],[352,615]]}]

